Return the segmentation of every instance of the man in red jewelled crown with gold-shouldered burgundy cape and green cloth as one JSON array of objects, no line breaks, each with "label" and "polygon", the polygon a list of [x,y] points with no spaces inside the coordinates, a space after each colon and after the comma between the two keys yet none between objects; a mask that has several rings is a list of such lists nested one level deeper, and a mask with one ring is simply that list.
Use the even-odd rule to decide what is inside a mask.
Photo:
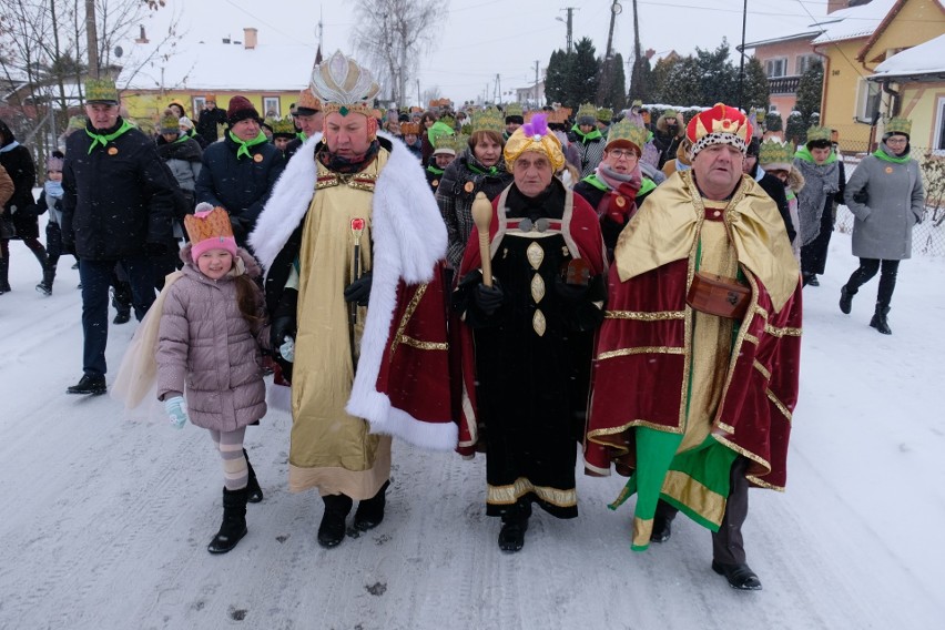
[{"label": "man in red jewelled crown with gold-shouldered burgundy cape and green cloth", "polygon": [[712,569],[755,590],[741,528],[749,486],[786,481],[800,273],[774,202],[742,175],[744,115],[718,104],[687,135],[692,170],[653,191],[617,243],[585,461],[630,476],[613,507],[638,495],[632,549],[668,540],[681,509],[712,530]]}]

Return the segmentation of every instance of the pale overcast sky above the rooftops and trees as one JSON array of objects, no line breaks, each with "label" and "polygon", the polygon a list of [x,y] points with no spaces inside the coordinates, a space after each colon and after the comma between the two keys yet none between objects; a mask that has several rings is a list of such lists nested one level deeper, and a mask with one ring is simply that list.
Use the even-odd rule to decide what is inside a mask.
[{"label": "pale overcast sky above the rooftops and trees", "polygon": [[[449,14],[440,27],[438,42],[420,63],[423,92],[439,88],[456,102],[481,96],[491,99],[496,74],[502,92],[524,88],[535,80],[535,61],[543,68],[551,52],[565,48],[566,7],[573,7],[573,40],[590,37],[598,54],[607,47],[611,0],[449,0]],[[633,51],[631,0],[620,0],[622,11],[613,30],[614,52],[629,61]],[[242,39],[244,27],[258,29],[260,44],[291,42],[317,45],[317,24],[324,24],[323,50],[341,49],[354,54],[350,33],[354,0],[167,0],[149,27],[160,28],[172,16],[179,18],[185,40]],[[638,0],[643,50],[657,57],[670,50],[687,54],[695,47],[713,49],[722,37],[732,47],[742,38],[744,0]],[[803,32],[826,13],[826,0],[748,0],[745,41],[759,41]],[[562,21],[558,21],[560,18]],[[299,78],[299,83],[305,78]],[[488,88],[487,88],[488,85]],[[416,98],[416,83],[411,85]],[[504,98],[502,100],[508,100]]]}]

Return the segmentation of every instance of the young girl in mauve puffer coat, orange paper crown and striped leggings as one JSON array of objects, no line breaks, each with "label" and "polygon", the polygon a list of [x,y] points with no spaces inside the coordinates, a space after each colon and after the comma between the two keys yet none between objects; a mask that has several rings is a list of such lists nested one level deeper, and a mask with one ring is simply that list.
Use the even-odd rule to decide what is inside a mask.
[{"label": "young girl in mauve puffer coat, orange paper crown and striped leggings", "polygon": [[270,326],[253,281],[260,266],[236,247],[226,211],[209,207],[184,220],[191,243],[164,296],[155,358],[158,398],[172,424],[209,429],[223,458],[223,524],[207,550],[225,553],[246,535],[246,501],[262,500],[243,436],[266,413],[261,346]]}]

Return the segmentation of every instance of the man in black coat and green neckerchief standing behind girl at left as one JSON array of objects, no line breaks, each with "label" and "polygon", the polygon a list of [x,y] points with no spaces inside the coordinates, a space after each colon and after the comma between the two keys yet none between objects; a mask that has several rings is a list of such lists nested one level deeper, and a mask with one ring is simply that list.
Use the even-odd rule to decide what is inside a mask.
[{"label": "man in black coat and green neckerchief standing behind girl at left", "polygon": [[121,262],[131,284],[134,314],[154,302],[150,256],[171,238],[173,181],[154,142],[119,115],[114,82],[89,80],[89,123],[65,144],[62,177],[63,250],[79,257],[82,282],[82,379],[69,394],[104,394],[109,285]]}]

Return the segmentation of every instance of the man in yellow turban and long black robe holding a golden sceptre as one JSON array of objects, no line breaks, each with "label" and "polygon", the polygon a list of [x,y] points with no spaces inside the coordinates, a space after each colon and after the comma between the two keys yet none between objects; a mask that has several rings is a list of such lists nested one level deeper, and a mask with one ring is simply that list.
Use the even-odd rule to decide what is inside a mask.
[{"label": "man in yellow turban and long black robe holding a golden sceptre", "polygon": [[491,274],[482,272],[477,226],[454,308],[465,324],[469,397],[459,450],[471,455],[481,430],[486,514],[501,517],[499,548],[515,552],[525,545],[532,504],[557,518],[578,516],[575,443],[607,291],[597,215],[553,176],[565,155],[545,114],[516,130],[504,156],[515,181],[491,204]]}]

